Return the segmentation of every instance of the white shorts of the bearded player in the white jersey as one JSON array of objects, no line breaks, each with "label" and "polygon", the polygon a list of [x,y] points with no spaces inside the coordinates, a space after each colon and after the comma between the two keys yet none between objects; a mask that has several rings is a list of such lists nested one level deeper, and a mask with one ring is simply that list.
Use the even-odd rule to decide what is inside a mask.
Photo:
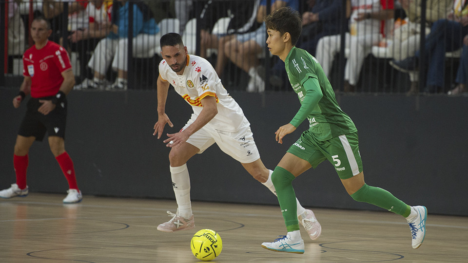
[{"label": "white shorts of the bearded player in the white jersey", "polygon": [[[192,118],[182,128],[184,130],[195,121],[196,116]],[[241,125],[237,131],[219,131],[208,125],[205,125],[200,130],[192,134],[187,140],[188,143],[200,149],[198,153],[202,153],[208,147],[216,143],[222,151],[233,157],[240,163],[252,163],[260,158],[257,146],[254,142],[254,134],[247,125],[248,121],[244,118],[246,125]]]}]

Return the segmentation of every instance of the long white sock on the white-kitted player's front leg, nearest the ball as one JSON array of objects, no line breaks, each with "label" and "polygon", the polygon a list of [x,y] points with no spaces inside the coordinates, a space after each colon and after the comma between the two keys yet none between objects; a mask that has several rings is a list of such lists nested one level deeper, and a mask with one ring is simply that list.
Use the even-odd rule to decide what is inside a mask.
[{"label": "long white sock on the white-kitted player's front leg, nearest the ball", "polygon": [[183,218],[192,216],[192,203],[190,202],[190,177],[187,164],[179,167],[169,167],[171,170],[172,186],[176,194],[177,212]]}]

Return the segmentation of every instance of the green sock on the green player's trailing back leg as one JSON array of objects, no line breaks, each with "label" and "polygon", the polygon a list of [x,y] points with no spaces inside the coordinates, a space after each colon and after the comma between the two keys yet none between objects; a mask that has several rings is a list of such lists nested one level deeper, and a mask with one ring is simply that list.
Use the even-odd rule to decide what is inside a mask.
[{"label": "green sock on the green player's trailing back leg", "polygon": [[351,194],[351,197],[358,202],[366,202],[377,207],[382,207],[404,217],[408,217],[411,212],[411,207],[394,197],[389,191],[368,186],[367,184],[364,184],[357,192]]}]

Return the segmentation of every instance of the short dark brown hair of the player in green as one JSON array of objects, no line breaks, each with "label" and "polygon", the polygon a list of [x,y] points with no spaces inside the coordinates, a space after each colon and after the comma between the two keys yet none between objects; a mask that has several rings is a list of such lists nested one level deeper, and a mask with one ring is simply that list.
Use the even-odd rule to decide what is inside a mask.
[{"label": "short dark brown hair of the player in green", "polygon": [[288,32],[291,35],[291,43],[295,45],[302,32],[302,18],[299,12],[291,7],[281,7],[266,16],[267,29],[279,31],[281,35]]}]

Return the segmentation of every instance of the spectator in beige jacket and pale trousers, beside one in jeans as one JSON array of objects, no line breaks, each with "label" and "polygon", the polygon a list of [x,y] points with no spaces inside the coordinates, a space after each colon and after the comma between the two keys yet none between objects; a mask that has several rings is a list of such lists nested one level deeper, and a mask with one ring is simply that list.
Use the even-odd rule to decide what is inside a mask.
[{"label": "spectator in beige jacket and pale trousers, beside one in jeans", "polygon": [[[393,39],[389,48],[393,51],[393,58],[403,60],[408,56],[414,56],[420,45],[421,31],[421,0],[400,0],[403,10],[407,15],[399,27],[395,26]],[[447,18],[453,0],[428,0],[426,7],[426,35],[430,32],[433,22]],[[411,87],[408,94],[418,92],[418,74],[409,74]]]}]

